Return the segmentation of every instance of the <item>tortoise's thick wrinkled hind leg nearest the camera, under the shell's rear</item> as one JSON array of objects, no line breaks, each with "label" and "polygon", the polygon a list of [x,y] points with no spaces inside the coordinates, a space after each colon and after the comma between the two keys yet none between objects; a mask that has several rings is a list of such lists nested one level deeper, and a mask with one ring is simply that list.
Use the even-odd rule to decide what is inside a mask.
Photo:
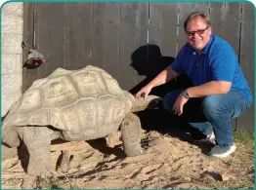
[{"label": "tortoise's thick wrinkled hind leg nearest the camera, under the shell's rear", "polygon": [[18,132],[29,153],[27,173],[41,177],[52,176],[54,172],[50,154],[52,131],[46,127],[22,127]]}]

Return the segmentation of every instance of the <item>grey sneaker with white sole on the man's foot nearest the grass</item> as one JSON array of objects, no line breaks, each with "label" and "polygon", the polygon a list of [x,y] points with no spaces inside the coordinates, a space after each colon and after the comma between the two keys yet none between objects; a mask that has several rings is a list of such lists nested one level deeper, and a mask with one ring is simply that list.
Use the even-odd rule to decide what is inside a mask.
[{"label": "grey sneaker with white sole on the man's foot nearest the grass", "polygon": [[227,145],[216,144],[210,151],[211,156],[225,158],[235,152],[235,143]]}]

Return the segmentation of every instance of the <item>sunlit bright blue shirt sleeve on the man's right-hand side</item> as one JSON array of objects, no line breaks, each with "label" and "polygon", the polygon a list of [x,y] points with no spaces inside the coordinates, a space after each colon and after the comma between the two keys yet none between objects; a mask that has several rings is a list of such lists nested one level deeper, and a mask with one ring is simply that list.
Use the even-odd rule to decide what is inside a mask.
[{"label": "sunlit bright blue shirt sleeve on the man's right-hand side", "polygon": [[211,64],[213,80],[233,82],[237,57],[231,48],[218,48],[214,51]]}]

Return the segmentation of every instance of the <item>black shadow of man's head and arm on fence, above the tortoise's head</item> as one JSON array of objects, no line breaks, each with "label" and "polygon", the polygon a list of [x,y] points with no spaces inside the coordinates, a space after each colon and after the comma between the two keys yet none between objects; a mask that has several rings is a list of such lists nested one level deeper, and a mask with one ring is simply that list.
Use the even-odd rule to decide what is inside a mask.
[{"label": "black shadow of man's head and arm on fence, above the tortoise's head", "polygon": [[[146,76],[146,79],[136,85],[129,92],[135,95],[144,86],[146,86],[154,77],[174,61],[174,57],[163,57],[160,48],[157,45],[141,46],[131,56],[131,66],[138,72],[140,76]],[[164,85],[155,87],[150,95],[158,95],[163,97],[171,91],[192,86],[187,75],[181,75]]]}]

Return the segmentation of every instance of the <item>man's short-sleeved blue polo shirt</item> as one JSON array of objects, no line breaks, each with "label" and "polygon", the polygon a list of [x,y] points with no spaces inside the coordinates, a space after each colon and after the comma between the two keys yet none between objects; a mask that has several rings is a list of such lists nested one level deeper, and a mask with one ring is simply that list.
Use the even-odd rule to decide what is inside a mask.
[{"label": "man's short-sleeved blue polo shirt", "polygon": [[243,76],[234,49],[218,36],[211,35],[210,41],[200,55],[187,43],[171,67],[177,73],[186,73],[193,86],[209,81],[232,82],[231,90],[237,90],[252,102],[251,90]]}]

